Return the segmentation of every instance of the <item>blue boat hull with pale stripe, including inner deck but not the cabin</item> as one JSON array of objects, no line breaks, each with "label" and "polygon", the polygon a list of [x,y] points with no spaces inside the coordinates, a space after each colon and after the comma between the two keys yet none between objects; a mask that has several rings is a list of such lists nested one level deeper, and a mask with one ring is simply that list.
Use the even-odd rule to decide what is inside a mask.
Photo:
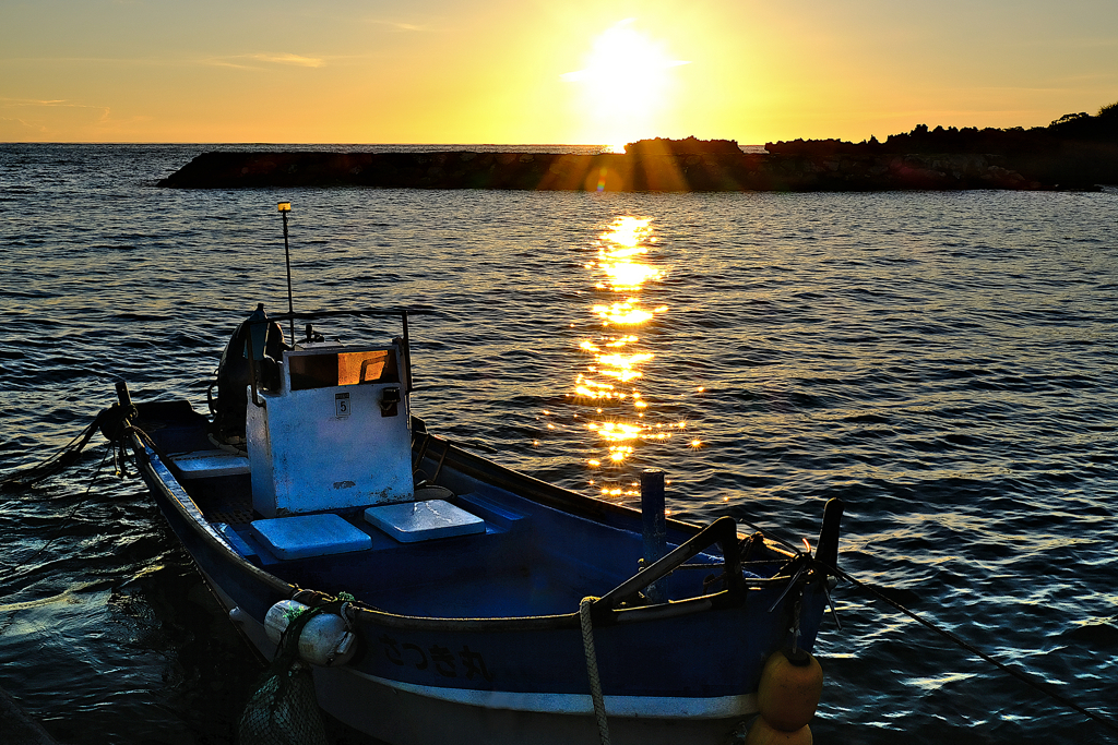
[{"label": "blue boat hull with pale stripe, including inner deck but not the cabin", "polygon": [[[356,655],[343,667],[314,669],[326,711],[401,745],[593,742],[579,602],[608,598],[636,572],[639,513],[424,433],[420,470],[437,471],[437,484],[485,520],[485,533],[406,544],[350,515],[370,548],[284,561],[246,525],[228,522],[247,476],[180,480],[157,455],[189,447],[182,443],[203,431],[205,418],[183,405],[141,405],[139,427],[154,439],[154,447],[134,442],[143,476],[257,649],[275,652],[265,614],[297,589],[357,598]],[[700,529],[667,520],[669,548],[694,543]],[[615,743],[722,742],[756,711],[761,666],[792,642],[797,611],[798,644],[812,648],[826,577],[768,539],[743,545],[740,582],[718,577],[723,555],[711,542],[662,581],[671,602],[597,608],[594,640]]]}]

